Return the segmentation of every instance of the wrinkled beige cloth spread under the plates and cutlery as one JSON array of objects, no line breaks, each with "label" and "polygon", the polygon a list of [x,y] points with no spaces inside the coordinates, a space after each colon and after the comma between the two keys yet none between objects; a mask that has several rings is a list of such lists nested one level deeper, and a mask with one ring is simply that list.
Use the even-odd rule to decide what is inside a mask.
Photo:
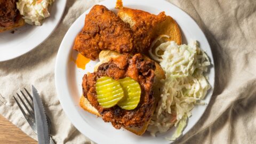
[{"label": "wrinkled beige cloth spread under the plates and cutlery", "polygon": [[[36,135],[12,98],[20,88],[30,89],[30,84],[42,96],[57,143],[91,143],[75,129],[60,106],[54,85],[54,65],[68,28],[98,2],[69,0],[50,38],[19,58],[0,62],[0,114],[34,139]],[[214,93],[203,117],[175,143],[255,143],[256,1],[170,2],[191,15],[204,31],[212,48],[216,73]]]}]

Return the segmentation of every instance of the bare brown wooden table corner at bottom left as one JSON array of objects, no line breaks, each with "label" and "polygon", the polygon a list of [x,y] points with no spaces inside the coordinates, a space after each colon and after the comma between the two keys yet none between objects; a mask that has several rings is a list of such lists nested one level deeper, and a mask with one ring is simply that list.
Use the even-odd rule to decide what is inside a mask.
[{"label": "bare brown wooden table corner at bottom left", "polygon": [[28,137],[27,134],[0,115],[0,143],[35,144],[37,141]]}]

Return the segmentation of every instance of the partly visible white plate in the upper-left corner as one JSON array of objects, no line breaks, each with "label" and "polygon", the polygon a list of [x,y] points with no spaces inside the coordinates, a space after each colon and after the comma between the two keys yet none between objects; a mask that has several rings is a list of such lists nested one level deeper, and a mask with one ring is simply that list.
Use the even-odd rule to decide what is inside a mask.
[{"label": "partly visible white plate in the upper-left corner", "polygon": [[0,33],[0,61],[10,60],[29,52],[43,43],[58,26],[65,10],[67,0],[55,0],[50,7],[51,16],[43,21],[42,26],[23,27]]}]

